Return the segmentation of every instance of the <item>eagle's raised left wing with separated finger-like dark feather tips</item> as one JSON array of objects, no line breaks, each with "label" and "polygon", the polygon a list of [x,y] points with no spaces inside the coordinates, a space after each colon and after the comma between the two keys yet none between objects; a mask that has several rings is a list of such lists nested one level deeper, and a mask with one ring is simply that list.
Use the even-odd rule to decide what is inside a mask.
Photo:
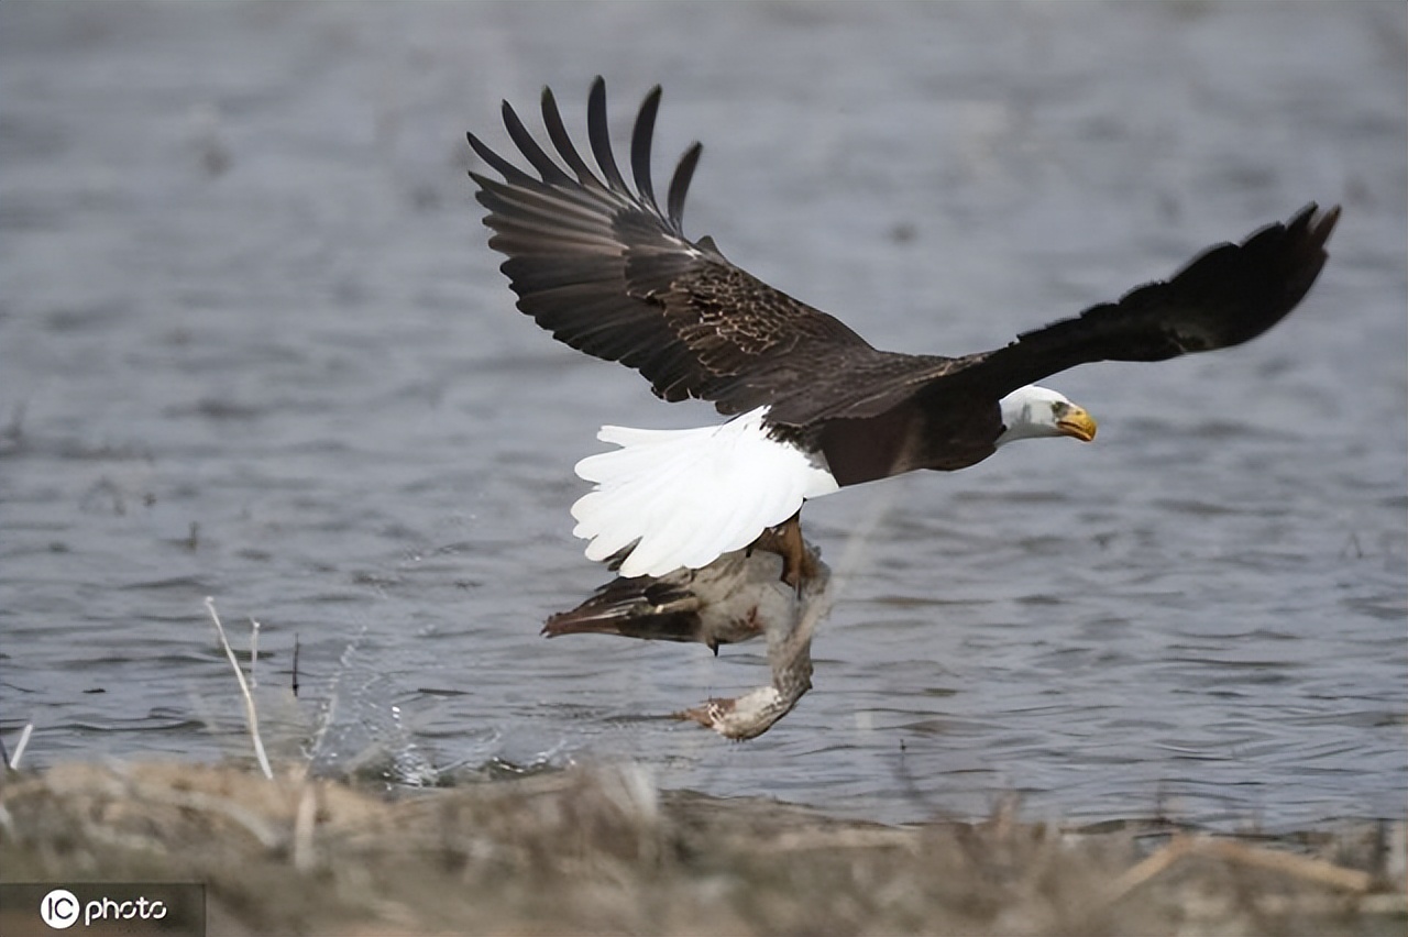
[{"label": "eagle's raised left wing with separated finger-like dark feather tips", "polygon": [[814,373],[880,356],[841,321],[772,288],[724,259],[710,238],[684,236],[681,215],[701,146],[670,180],[665,211],[650,181],[650,138],[660,89],[646,94],[631,138],[627,184],[611,152],[605,83],[587,101],[594,172],[563,127],[552,91],[542,118],[556,159],[504,101],[508,135],[536,177],[486,146],[474,152],[504,179],[470,173],[494,229],[489,245],[518,308],[572,348],[634,367],[655,393],[698,397],[719,412],[774,405],[808,390]]}]

